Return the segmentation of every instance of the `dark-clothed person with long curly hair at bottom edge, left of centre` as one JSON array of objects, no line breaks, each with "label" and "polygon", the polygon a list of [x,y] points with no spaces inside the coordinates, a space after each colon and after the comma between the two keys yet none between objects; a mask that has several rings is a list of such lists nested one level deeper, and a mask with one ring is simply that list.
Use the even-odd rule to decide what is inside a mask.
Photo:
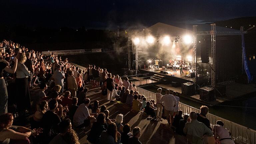
[{"label": "dark-clothed person with long curly hair at bottom edge, left of centre", "polygon": [[65,119],[59,124],[60,133],[49,144],[80,144],[76,132],[72,129],[70,119]]}]

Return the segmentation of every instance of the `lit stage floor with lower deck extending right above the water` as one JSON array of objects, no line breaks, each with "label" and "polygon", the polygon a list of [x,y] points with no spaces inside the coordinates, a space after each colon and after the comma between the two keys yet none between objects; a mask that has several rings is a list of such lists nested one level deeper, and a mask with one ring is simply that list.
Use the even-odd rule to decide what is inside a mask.
[{"label": "lit stage floor with lower deck extending right above the water", "polygon": [[[149,75],[154,75],[154,74],[161,74],[161,70],[145,70],[145,69],[140,69],[141,73],[149,73]],[[187,72],[187,70],[183,70],[184,74]],[[224,96],[216,96],[215,101],[206,101],[206,100],[201,100],[200,95],[196,94],[193,96],[185,96],[182,95],[182,90],[181,90],[181,84],[186,83],[186,82],[192,82],[191,78],[184,77],[184,74],[180,74],[180,71],[178,70],[176,73],[173,71],[169,71],[169,74],[162,74],[166,76],[166,79],[168,80],[165,83],[160,83],[156,84],[157,87],[161,87],[164,89],[169,89],[171,91],[176,91],[178,93],[178,96],[200,102],[202,104],[208,105],[208,106],[214,106],[218,105],[220,103],[223,103],[225,101],[233,100],[233,99],[238,99],[238,98],[247,98],[250,96],[253,96],[256,94],[256,87],[255,84],[241,84],[241,83],[229,83],[226,84],[226,93]],[[175,75],[175,76],[173,76]],[[179,86],[178,87],[173,87],[171,85],[172,82],[178,82]],[[216,92],[217,93],[217,92]]]}]

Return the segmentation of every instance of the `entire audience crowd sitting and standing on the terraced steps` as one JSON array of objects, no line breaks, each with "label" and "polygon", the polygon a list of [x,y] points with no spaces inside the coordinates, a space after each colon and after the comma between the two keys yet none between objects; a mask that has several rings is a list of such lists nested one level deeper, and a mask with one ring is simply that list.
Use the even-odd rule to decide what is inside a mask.
[{"label": "entire audience crowd sitting and standing on the terraced steps", "polygon": [[[88,84],[100,88],[110,103],[120,101],[149,120],[159,122],[165,117],[167,125],[176,134],[186,136],[188,143],[203,144],[206,136],[212,135],[218,143],[234,143],[222,121],[210,127],[206,117],[208,107],[202,106],[200,113],[183,114],[176,92],[171,94],[167,89],[162,95],[159,88],[155,100],[147,99],[127,77],[122,80],[105,68],[89,65],[82,70],[57,54],[44,56],[12,41],[3,40],[0,47],[3,48],[0,52],[1,144],[29,144],[31,140],[42,144],[78,144],[74,129],[88,128],[87,140],[93,144],[141,144],[139,127],[134,127],[131,133],[130,125],[123,123],[122,114],[110,119],[105,105],[100,107],[97,100],[91,104],[87,97],[89,89],[85,87]],[[32,97],[35,87],[39,90]],[[33,114],[29,118],[30,129],[12,125],[29,114]]]}]

